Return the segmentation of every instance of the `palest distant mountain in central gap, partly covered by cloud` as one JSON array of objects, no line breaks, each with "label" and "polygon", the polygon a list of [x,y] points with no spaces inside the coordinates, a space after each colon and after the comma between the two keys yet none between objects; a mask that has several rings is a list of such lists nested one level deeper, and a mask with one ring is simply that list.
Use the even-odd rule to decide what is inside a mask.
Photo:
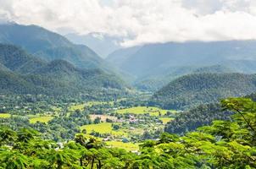
[{"label": "palest distant mountain in central gap, partly covered by cloud", "polygon": [[105,35],[103,33],[90,33],[87,35],[72,33],[65,35],[65,37],[75,44],[83,44],[90,47],[103,58],[107,57],[109,53],[118,50],[120,48],[120,41],[122,41],[119,37]]}]

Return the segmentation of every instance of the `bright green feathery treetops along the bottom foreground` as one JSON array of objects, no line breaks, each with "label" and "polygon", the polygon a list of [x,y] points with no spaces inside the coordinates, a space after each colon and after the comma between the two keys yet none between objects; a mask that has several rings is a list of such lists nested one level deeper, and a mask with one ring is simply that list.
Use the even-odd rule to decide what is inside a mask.
[{"label": "bright green feathery treetops along the bottom foreground", "polygon": [[31,130],[1,128],[0,168],[256,168],[256,102],[221,104],[236,112],[232,121],[214,121],[183,137],[162,134],[144,142],[138,155],[82,134],[58,148]]}]

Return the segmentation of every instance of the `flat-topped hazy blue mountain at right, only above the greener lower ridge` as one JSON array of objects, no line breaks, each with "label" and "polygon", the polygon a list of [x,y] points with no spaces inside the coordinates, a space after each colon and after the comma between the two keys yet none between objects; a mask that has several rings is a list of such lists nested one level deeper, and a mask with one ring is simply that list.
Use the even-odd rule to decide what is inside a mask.
[{"label": "flat-topped hazy blue mountain at right, only above the greener lower ridge", "polygon": [[179,66],[210,66],[229,60],[255,61],[255,46],[256,41],[152,44],[143,46],[121,67],[133,74],[146,75],[155,69],[164,71]]}]

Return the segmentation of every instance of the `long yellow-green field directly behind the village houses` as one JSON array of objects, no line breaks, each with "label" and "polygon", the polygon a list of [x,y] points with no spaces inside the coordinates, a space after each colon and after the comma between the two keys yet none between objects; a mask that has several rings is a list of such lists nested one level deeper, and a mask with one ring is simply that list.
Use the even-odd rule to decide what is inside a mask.
[{"label": "long yellow-green field directly behind the village houses", "polygon": [[158,107],[154,106],[134,106],[131,108],[125,108],[125,109],[120,109],[116,111],[117,113],[120,114],[125,114],[125,113],[131,113],[131,114],[145,114],[149,113],[150,116],[159,116],[159,113],[161,115],[165,115],[168,110],[163,110]]}]

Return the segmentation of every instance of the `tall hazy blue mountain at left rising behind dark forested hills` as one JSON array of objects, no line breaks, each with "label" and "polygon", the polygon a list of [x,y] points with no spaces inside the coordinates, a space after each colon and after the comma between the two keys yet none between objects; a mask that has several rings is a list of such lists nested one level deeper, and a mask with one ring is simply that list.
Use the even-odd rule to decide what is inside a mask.
[{"label": "tall hazy blue mountain at left rising behind dark forested hills", "polygon": [[111,69],[89,47],[75,45],[64,36],[36,25],[0,25],[0,43],[21,46],[46,61],[64,59],[79,68]]}]

